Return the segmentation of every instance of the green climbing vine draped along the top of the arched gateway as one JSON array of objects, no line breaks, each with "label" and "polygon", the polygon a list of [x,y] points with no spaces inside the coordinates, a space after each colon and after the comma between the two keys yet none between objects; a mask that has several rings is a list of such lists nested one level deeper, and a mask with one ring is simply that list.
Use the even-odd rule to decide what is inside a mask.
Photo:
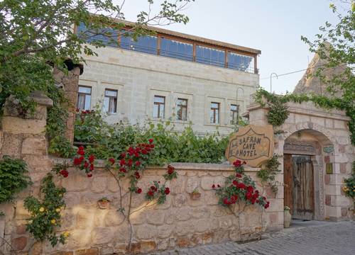
[{"label": "green climbing vine draped along the top of the arched gateway", "polygon": [[[266,102],[264,101],[266,99]],[[272,113],[268,114],[268,123],[277,126],[282,125],[288,117],[289,111],[285,103],[294,102],[313,102],[316,106],[324,109],[337,109],[345,111],[346,115],[350,118],[349,120],[349,131],[351,144],[355,145],[355,103],[354,98],[351,100],[343,100],[342,98],[328,98],[327,96],[320,96],[316,94],[305,95],[305,94],[285,94],[285,95],[275,95],[271,94],[265,89],[258,89],[254,95],[254,100],[260,103],[261,106],[266,106],[266,104],[271,107]],[[279,108],[279,109],[278,109]],[[280,110],[281,109],[281,110]]]}]

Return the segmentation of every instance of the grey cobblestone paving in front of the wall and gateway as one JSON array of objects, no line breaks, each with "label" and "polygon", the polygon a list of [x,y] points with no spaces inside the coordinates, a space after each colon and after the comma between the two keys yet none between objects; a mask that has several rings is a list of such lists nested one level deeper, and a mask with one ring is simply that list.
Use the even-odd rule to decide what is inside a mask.
[{"label": "grey cobblestone paving in front of the wall and gateway", "polygon": [[[297,225],[297,223],[296,223]],[[268,234],[266,239],[246,244],[226,242],[192,249],[176,249],[157,255],[337,255],[355,254],[355,222],[310,222]]]}]

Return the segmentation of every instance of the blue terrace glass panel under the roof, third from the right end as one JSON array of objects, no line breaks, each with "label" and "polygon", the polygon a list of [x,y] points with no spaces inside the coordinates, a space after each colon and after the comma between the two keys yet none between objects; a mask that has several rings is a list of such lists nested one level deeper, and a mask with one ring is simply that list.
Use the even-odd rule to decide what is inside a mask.
[{"label": "blue terrace glass panel under the roof, third from the right end", "polygon": [[166,38],[160,39],[160,55],[174,57],[179,60],[194,60],[194,46],[191,43],[179,42]]}]

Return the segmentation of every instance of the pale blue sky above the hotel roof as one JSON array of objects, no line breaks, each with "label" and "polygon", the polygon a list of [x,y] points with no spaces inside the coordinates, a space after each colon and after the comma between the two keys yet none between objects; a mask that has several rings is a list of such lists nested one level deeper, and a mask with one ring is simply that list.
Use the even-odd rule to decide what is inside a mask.
[{"label": "pale blue sky above the hotel roof", "polygon": [[[158,7],[159,1],[155,2]],[[314,39],[325,21],[337,23],[330,3],[329,0],[195,0],[184,11],[189,23],[164,28],[261,50],[260,85],[270,91],[271,73],[280,75],[307,68],[313,54],[301,35]],[[146,11],[147,6],[147,0],[126,0],[123,8],[126,20],[136,21],[137,13]],[[273,78],[272,90],[276,94],[292,92],[303,74]]]}]

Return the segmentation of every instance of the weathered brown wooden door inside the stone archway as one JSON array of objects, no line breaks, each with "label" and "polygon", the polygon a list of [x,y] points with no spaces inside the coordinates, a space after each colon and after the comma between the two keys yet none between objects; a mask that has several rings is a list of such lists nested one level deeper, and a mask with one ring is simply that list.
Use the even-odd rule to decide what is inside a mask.
[{"label": "weathered brown wooden door inside the stone archway", "polygon": [[284,154],[284,205],[295,219],[312,220],[315,212],[313,164],[310,156]]}]

